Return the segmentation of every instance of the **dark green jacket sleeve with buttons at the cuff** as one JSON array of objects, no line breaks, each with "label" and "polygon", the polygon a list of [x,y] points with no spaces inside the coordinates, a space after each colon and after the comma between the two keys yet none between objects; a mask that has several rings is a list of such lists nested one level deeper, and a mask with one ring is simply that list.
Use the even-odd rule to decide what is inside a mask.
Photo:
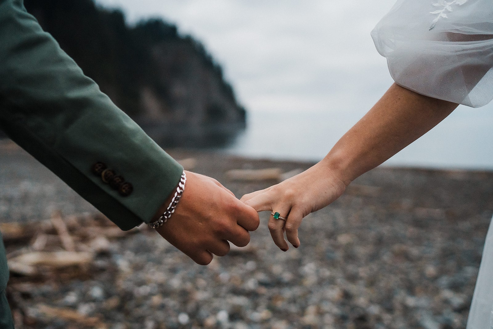
[{"label": "dark green jacket sleeve with buttons at the cuff", "polygon": [[[149,222],[182,172],[22,0],[0,0],[0,128],[124,230]],[[123,178],[123,191],[93,173],[98,162]]]}]

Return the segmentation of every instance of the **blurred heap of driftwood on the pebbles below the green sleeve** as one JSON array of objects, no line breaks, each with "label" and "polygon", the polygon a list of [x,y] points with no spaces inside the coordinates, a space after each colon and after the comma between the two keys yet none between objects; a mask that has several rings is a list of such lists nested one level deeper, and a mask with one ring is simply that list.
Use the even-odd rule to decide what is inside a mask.
[{"label": "blurred heap of driftwood on the pebbles below the green sleeve", "polygon": [[0,228],[4,237],[10,239],[6,241],[15,242],[6,244],[10,272],[28,277],[39,277],[69,266],[87,269],[97,254],[110,250],[111,239],[129,234],[102,216],[62,218],[59,212],[35,225],[1,223]]}]

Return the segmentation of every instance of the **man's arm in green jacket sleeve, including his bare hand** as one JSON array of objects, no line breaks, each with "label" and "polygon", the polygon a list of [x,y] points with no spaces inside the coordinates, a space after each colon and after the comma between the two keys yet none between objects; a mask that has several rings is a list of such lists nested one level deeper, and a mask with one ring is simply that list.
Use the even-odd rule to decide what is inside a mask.
[{"label": "man's arm in green jacket sleeve, including his bare hand", "polygon": [[[183,171],[41,30],[21,0],[0,0],[0,128],[124,230],[157,219]],[[247,230],[257,226],[253,209],[189,173],[175,214],[159,232],[205,264],[210,252],[229,250],[225,240],[248,243]]]}]

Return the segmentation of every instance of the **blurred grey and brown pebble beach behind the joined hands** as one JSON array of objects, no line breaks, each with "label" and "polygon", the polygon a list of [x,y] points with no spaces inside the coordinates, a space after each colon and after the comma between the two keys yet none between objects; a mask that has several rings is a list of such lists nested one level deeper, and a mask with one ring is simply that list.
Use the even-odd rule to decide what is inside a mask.
[{"label": "blurred grey and brown pebble beach behind the joined hands", "polygon": [[[276,182],[229,181],[229,169],[310,166],[170,153],[194,157],[194,171],[238,197]],[[99,318],[108,329],[465,328],[492,191],[493,172],[377,168],[304,219],[298,249],[274,245],[266,212],[249,246],[209,266],[144,228],[111,240],[75,275],[11,278],[9,296],[24,328],[87,328],[46,307]],[[1,145],[0,220],[46,219],[54,210],[94,213],[29,155]]]}]

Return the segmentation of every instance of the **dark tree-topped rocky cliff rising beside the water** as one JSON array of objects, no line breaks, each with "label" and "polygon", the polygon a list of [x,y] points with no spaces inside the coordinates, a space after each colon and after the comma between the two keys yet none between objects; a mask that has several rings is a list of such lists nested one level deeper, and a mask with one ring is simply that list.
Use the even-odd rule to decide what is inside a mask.
[{"label": "dark tree-topped rocky cliff rising beside the water", "polygon": [[224,143],[245,127],[220,66],[161,19],[125,22],[93,0],[25,0],[26,9],[113,102],[158,143]]}]

